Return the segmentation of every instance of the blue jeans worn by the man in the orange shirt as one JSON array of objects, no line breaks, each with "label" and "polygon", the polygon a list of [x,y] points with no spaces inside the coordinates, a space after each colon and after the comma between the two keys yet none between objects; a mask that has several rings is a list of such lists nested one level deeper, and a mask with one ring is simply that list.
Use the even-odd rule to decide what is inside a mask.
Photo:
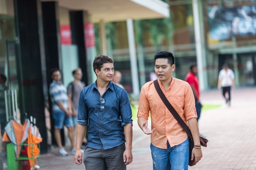
[{"label": "blue jeans worn by the man in the orange shirt", "polygon": [[188,170],[189,140],[171,147],[167,140],[167,149],[150,144],[154,170]]}]

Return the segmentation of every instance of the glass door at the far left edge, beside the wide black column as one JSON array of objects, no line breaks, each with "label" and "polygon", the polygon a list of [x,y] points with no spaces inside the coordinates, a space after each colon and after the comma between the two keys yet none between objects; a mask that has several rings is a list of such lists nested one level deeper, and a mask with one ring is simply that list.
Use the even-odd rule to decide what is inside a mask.
[{"label": "glass door at the far left edge, beside the wide black column", "polygon": [[19,83],[13,15],[0,14],[0,124],[1,132],[10,119],[20,122]]}]

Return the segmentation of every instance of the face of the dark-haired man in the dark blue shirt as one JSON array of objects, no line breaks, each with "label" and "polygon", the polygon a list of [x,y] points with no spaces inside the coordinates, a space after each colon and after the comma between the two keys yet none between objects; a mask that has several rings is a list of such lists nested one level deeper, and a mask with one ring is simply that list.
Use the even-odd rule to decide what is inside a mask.
[{"label": "face of the dark-haired man in the dark blue shirt", "polygon": [[112,81],[114,76],[114,66],[113,63],[104,63],[100,70],[95,70],[97,78],[103,81]]}]

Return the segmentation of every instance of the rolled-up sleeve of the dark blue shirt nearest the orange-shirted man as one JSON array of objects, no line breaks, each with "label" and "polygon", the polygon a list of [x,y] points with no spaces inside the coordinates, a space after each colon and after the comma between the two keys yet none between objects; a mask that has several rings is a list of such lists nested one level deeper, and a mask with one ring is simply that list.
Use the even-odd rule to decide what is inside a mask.
[{"label": "rolled-up sleeve of the dark blue shirt nearest the orange-shirted man", "polygon": [[126,124],[132,124],[132,109],[130,100],[127,92],[124,89],[122,90],[119,109],[121,113],[122,126],[125,126]]}]

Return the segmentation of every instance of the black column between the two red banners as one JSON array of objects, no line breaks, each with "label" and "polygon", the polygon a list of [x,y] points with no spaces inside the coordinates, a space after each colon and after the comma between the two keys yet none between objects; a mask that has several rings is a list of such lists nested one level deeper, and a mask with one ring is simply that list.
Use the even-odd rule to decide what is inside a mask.
[{"label": "black column between the two red banners", "polygon": [[84,42],[84,11],[70,11],[70,27],[72,34],[72,44],[77,45],[78,48],[78,62],[79,67],[84,73],[82,81],[88,85],[88,76],[86,69],[86,49]]}]

